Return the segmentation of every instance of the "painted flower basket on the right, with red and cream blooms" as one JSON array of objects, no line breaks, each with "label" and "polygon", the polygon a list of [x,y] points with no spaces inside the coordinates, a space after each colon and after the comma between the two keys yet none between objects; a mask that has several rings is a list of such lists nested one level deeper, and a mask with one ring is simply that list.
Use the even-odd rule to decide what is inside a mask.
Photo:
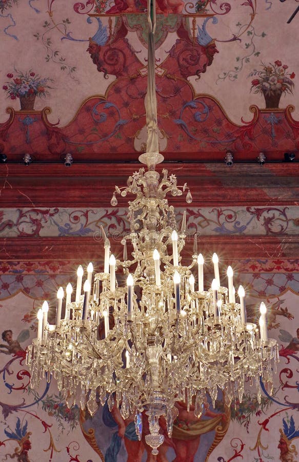
[{"label": "painted flower basket on the right, with red and cream blooms", "polygon": [[[254,77],[251,81],[251,90],[254,93],[262,93],[266,101],[266,108],[278,108],[281,95],[293,93],[294,72],[288,72],[288,66],[276,60],[274,64],[264,64],[262,70],[254,69],[249,77]],[[250,91],[251,91],[250,90]]]}]

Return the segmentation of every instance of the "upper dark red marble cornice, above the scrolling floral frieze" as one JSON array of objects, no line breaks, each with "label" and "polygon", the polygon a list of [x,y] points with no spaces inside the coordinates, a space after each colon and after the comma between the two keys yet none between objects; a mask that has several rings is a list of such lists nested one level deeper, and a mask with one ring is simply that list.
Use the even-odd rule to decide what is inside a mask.
[{"label": "upper dark red marble cornice, above the scrolling floral frieze", "polygon": [[[141,164],[89,163],[70,168],[63,164],[0,164],[1,207],[108,207],[114,185],[123,186]],[[299,163],[234,164],[167,163],[157,167],[188,183],[193,203],[200,206],[296,205],[299,200]],[[170,198],[186,206],[185,196]],[[119,206],[127,199],[119,197]]]}]

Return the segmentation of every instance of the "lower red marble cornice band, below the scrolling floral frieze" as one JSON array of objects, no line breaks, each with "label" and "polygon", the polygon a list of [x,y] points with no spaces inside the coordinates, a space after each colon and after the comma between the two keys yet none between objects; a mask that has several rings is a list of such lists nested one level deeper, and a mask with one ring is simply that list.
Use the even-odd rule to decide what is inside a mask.
[{"label": "lower red marble cornice band, below the scrolling floral frieze", "polygon": [[[192,255],[190,239],[182,252],[183,258]],[[223,264],[244,259],[298,259],[299,236],[277,238],[272,236],[220,236],[201,237],[198,248],[209,258],[216,252]],[[122,258],[123,246],[119,240],[111,241],[116,258]],[[55,260],[70,262],[102,261],[103,242],[90,237],[19,237],[0,239],[0,261]],[[187,263],[187,261],[186,261]],[[183,261],[184,264],[184,261]]]}]

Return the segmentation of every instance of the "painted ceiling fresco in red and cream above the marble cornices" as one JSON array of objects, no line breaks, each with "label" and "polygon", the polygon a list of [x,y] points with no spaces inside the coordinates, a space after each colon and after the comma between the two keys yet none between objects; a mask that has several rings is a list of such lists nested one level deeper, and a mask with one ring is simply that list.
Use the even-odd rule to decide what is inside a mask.
[{"label": "painted ceiling fresco in red and cream above the marble cornices", "polygon": [[[3,152],[98,160],[136,159],[145,150],[146,4],[130,2],[1,0]],[[242,159],[266,150],[277,160],[296,149],[297,16],[287,24],[295,6],[157,3],[156,95],[167,159],[218,159],[231,149]]]}]

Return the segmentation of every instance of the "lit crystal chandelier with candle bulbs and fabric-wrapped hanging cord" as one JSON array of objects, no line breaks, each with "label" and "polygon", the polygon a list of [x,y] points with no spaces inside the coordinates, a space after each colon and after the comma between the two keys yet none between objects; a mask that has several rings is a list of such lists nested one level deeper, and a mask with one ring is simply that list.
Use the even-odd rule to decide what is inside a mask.
[{"label": "lit crystal chandelier with candle bulbs and fabric-wrapped hanging cord", "polygon": [[[197,254],[196,245],[190,264],[182,264],[186,213],[178,232],[166,196],[187,192],[187,203],[192,197],[187,185],[177,186],[176,177],[168,176],[166,169],[162,177],[155,170],[163,156],[158,153],[157,141],[154,4],[148,10],[148,141],[147,153],[139,157],[147,170],[135,172],[126,187],[116,186],[111,199],[115,206],[115,194],[135,196],[129,202],[130,233],[122,240],[124,258],[115,260],[110,255],[110,242],[103,230],[104,271],[95,274],[92,283],[93,267],[88,265],[82,295],[83,268],[78,267],[75,300],[68,284],[65,317],[61,319],[64,291],[59,288],[53,325],[48,323],[48,304],[44,302],[38,311],[37,338],[27,349],[26,361],[32,386],[53,375],[69,407],[77,402],[93,415],[98,400],[102,405],[107,400],[110,410],[115,405],[121,407],[124,419],[135,414],[139,440],[141,413],[145,411],[150,431],[145,440],[157,454],[164,441],[159,418],[166,419],[171,437],[175,402],[185,401],[188,411],[193,405],[200,418],[206,393],[213,405],[219,389],[225,392],[228,406],[236,397],[241,402],[247,378],[255,382],[260,399],[260,379],[271,389],[278,347],[268,338],[264,303],[259,328],[247,322],[245,292],[240,286],[240,303],[236,303],[230,266],[227,288],[220,283],[216,254],[210,287],[204,281],[204,259]],[[117,268],[127,277],[125,286],[117,284]],[[198,275],[196,284],[193,272]],[[105,326],[102,336],[100,324]]]}]

